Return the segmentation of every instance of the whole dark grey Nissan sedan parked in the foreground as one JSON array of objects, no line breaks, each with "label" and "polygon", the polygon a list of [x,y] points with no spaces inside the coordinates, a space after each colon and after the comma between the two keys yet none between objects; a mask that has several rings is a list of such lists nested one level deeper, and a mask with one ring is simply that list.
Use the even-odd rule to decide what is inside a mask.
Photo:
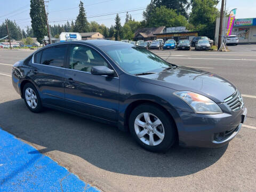
[{"label": "whole dark grey Nissan sedan parked in the foreground", "polygon": [[54,108],[115,125],[155,152],[175,142],[226,145],[247,112],[226,79],[115,41],[47,45],[14,64],[12,83],[34,113]]}]

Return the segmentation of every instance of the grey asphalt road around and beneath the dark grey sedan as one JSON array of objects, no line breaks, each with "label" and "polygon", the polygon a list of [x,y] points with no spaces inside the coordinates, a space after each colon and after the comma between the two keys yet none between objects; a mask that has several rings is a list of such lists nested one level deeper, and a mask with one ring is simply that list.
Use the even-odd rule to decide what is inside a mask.
[{"label": "grey asphalt road around and beneath the dark grey sedan", "polygon": [[8,76],[31,51],[0,50],[0,126],[102,191],[255,191],[256,51],[239,46],[242,51],[154,51],[174,64],[225,77],[244,95],[246,124],[222,148],[174,146],[154,154],[116,127],[51,109],[31,113]]}]

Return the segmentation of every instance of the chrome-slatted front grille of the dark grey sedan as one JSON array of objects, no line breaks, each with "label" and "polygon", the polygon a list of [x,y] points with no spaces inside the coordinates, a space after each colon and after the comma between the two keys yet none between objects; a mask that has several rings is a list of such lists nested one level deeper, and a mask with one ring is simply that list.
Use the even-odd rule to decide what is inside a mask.
[{"label": "chrome-slatted front grille of the dark grey sedan", "polygon": [[232,109],[233,111],[237,111],[242,109],[244,106],[242,95],[236,90],[236,92],[224,100],[224,102]]}]

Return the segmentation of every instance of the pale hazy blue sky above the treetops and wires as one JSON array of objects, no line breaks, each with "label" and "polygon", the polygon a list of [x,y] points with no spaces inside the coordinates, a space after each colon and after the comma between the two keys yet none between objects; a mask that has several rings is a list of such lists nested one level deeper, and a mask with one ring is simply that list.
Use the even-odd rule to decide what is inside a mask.
[{"label": "pale hazy blue sky above the treetops and wires", "polygon": [[[78,15],[78,5],[80,0],[46,0],[48,3],[47,11],[49,12],[50,25],[62,25],[66,23],[67,19],[76,19]],[[115,14],[119,13],[121,17],[122,25],[125,21],[125,12],[128,11],[136,21],[143,19],[143,9],[150,3],[150,0],[82,0],[84,3],[85,12],[88,21],[97,21],[100,24],[104,24],[107,27],[115,25]],[[221,1],[220,1],[221,2]],[[26,26],[30,26],[30,1],[29,0],[0,0],[0,4],[4,5],[5,9],[0,11],[0,23],[5,18],[15,20],[17,24],[25,29]],[[220,9],[220,3],[218,8]],[[236,18],[256,18],[256,0],[227,0],[227,10],[237,8]],[[135,11],[132,11],[135,10]],[[101,17],[97,17],[102,14]],[[65,21],[63,21],[65,20]]]}]

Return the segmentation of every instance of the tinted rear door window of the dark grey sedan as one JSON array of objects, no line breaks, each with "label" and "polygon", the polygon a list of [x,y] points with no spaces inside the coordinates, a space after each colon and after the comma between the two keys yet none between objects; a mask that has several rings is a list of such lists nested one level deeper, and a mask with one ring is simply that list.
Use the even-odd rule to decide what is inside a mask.
[{"label": "tinted rear door window of the dark grey sedan", "polygon": [[41,64],[54,67],[64,67],[67,46],[60,45],[49,47],[42,53]]}]

